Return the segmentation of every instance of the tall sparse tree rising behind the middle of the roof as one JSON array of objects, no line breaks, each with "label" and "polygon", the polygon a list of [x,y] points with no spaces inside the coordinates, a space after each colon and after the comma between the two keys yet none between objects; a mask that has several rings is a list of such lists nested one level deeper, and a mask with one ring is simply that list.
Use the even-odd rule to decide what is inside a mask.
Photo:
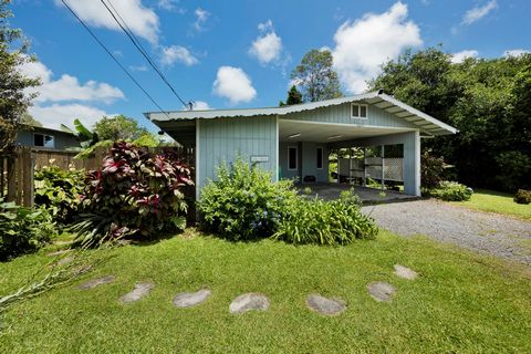
[{"label": "tall sparse tree rising behind the middle of the roof", "polygon": [[302,91],[304,102],[316,102],[343,96],[337,73],[333,70],[332,53],[312,49],[291,73]]}]

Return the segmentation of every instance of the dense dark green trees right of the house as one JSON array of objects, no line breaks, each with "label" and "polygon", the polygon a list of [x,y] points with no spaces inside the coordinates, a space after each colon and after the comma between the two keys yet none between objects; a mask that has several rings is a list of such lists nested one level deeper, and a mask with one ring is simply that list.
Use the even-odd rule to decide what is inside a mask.
[{"label": "dense dark green trees right of the house", "polygon": [[369,87],[459,129],[423,142],[456,166],[459,181],[531,187],[531,54],[452,63],[441,48],[408,51],[386,63]]}]

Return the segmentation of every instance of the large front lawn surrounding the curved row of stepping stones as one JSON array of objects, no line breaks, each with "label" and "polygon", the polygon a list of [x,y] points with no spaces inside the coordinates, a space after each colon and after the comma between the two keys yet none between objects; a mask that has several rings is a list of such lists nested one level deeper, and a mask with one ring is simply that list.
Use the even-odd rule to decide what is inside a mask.
[{"label": "large front lawn surrounding the curved row of stepping stones", "polygon": [[[341,248],[186,236],[98,251],[108,252],[106,261],[83,279],[13,304],[3,313],[0,352],[531,352],[524,266],[387,232]],[[0,294],[49,261],[43,250],[0,263]],[[396,278],[395,263],[421,277]],[[76,288],[111,273],[115,283]],[[146,280],[156,283],[147,298],[118,304]],[[366,284],[376,280],[397,288],[392,303],[368,296]],[[214,291],[206,303],[173,306],[176,293],[202,287]],[[270,310],[229,314],[243,292],[267,294]],[[312,292],[340,296],[348,309],[337,317],[311,312],[304,300]]]}]

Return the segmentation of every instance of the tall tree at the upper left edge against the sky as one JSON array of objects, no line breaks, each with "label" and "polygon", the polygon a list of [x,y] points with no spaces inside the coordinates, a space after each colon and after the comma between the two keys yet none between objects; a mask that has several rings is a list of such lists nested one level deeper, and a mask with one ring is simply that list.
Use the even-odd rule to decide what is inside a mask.
[{"label": "tall tree at the upper left edge against the sky", "polygon": [[10,0],[0,0],[0,150],[17,138],[18,124],[37,94],[25,88],[38,86],[38,79],[25,77],[20,66],[34,58],[28,55],[29,43],[20,29],[12,29],[8,9]]}]

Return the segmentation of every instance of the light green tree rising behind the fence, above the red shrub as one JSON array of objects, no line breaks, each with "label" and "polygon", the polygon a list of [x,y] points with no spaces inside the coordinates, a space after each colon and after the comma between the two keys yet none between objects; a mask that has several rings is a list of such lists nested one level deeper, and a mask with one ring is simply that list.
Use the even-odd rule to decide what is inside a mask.
[{"label": "light green tree rising behind the fence, above the red shrub", "polygon": [[94,124],[94,132],[102,140],[136,140],[140,136],[149,134],[145,127],[139,127],[138,123],[125,115],[115,117],[103,117]]}]

